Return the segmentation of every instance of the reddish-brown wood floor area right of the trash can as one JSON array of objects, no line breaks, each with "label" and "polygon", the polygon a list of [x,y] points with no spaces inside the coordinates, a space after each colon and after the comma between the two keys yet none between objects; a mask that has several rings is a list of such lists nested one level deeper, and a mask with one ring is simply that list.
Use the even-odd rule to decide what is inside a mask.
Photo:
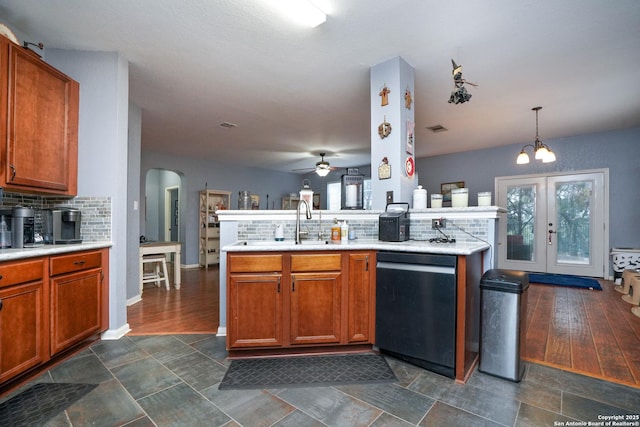
[{"label": "reddish-brown wood floor area right of the trash can", "polygon": [[640,387],[640,318],[613,282],[602,291],[532,284],[525,360]]}]

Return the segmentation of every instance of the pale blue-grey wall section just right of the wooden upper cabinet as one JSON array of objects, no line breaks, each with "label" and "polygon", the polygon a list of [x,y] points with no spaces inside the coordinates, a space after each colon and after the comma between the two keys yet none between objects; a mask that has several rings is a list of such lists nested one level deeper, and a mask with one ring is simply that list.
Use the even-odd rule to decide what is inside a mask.
[{"label": "pale blue-grey wall section just right of the wooden upper cabinet", "polygon": [[[111,198],[109,331],[128,329],[126,312],[129,64],[113,52],[48,49],[46,60],[80,83],[78,196]],[[134,178],[137,182],[139,175]],[[118,332],[119,331],[119,332]]]}]

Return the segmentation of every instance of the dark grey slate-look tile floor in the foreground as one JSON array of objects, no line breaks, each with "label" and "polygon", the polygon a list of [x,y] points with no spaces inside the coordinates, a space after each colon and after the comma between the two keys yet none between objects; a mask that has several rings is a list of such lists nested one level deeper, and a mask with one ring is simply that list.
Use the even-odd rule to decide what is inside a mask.
[{"label": "dark grey slate-look tile floor in the foreground", "polygon": [[30,384],[100,384],[47,426],[538,427],[614,415],[639,425],[640,389],[535,364],[520,383],[476,371],[459,385],[387,360],[398,378],[392,385],[220,391],[224,338],[135,336],[96,342]]}]

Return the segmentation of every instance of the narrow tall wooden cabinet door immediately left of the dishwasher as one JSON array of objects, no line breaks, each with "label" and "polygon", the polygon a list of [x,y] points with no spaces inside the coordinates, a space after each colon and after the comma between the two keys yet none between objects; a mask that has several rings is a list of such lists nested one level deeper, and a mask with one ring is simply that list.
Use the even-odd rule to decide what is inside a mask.
[{"label": "narrow tall wooden cabinet door immediately left of the dishwasher", "polygon": [[375,328],[374,252],[349,254],[347,342],[372,342]]}]

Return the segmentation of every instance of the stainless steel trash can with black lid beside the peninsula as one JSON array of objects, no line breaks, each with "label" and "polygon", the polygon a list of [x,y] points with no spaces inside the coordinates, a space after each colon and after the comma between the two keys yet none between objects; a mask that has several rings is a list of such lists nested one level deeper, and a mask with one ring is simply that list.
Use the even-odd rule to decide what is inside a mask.
[{"label": "stainless steel trash can with black lid beside the peninsula", "polygon": [[488,270],[480,280],[480,372],[519,382],[524,374],[524,325],[529,275]]}]

